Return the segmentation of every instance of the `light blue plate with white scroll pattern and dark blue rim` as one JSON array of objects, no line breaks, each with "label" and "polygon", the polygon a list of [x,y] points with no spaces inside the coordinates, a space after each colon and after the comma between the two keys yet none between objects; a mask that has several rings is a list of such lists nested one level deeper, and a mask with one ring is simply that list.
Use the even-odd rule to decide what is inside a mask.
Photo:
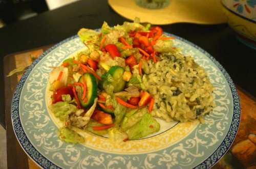
[{"label": "light blue plate with white scroll pattern and dark blue rim", "polygon": [[[12,123],[24,151],[43,168],[209,168],[229,149],[240,123],[239,96],[230,76],[210,54],[180,37],[175,46],[205,68],[216,88],[216,107],[199,122],[161,125],[150,137],[115,145],[108,138],[81,133],[85,144],[58,139],[58,121],[49,113],[48,80],[52,68],[84,47],[77,36],[42,54],[18,82]],[[160,121],[161,122],[161,121]]]}]

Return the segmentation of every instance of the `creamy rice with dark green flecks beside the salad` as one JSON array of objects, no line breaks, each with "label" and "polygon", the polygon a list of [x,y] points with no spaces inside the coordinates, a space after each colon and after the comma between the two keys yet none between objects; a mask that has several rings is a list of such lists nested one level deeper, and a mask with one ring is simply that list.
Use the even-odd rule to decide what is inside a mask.
[{"label": "creamy rice with dark green flecks beside the salad", "polygon": [[154,99],[151,114],[170,121],[201,119],[214,107],[214,87],[204,69],[192,57],[165,53],[156,64],[148,61],[150,73],[143,82]]}]

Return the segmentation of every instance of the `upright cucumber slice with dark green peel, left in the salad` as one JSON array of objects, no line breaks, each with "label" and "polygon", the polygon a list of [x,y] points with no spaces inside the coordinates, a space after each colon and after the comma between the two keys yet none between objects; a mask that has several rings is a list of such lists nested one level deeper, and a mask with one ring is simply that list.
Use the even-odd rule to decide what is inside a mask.
[{"label": "upright cucumber slice with dark green peel, left in the salad", "polygon": [[[96,77],[92,73],[84,73],[78,80],[78,82],[83,83],[86,82],[86,97],[84,99],[81,99],[81,96],[83,95],[83,89],[81,90],[81,94],[78,96],[81,106],[88,108],[91,107],[94,103],[94,99],[97,97],[97,81]],[[87,100],[85,102],[85,100]]]}]

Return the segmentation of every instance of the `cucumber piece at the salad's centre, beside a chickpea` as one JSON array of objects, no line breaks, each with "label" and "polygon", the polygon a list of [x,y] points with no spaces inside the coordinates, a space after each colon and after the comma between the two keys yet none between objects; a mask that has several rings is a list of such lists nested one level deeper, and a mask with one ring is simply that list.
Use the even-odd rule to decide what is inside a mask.
[{"label": "cucumber piece at the salad's centre, beside a chickpea", "polygon": [[114,79],[111,83],[114,86],[114,93],[123,91],[126,86],[126,81],[123,80],[124,71],[121,66],[112,66],[108,71]]}]

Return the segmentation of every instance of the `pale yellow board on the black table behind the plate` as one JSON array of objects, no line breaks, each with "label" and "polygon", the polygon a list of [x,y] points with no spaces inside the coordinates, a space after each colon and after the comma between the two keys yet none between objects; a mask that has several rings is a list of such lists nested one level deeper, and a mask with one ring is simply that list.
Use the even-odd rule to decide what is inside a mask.
[{"label": "pale yellow board on the black table behind the plate", "polygon": [[121,16],[141,22],[164,25],[177,22],[218,24],[226,22],[220,0],[170,0],[163,9],[146,9],[135,0],[108,0],[109,5]]}]

